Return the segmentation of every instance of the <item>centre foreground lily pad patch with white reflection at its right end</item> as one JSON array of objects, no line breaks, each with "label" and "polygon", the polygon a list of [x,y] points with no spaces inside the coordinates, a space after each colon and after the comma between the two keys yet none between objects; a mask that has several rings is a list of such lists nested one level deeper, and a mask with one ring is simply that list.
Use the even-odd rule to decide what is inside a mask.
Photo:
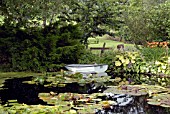
[{"label": "centre foreground lily pad patch with white reflection at its right end", "polygon": [[133,97],[105,93],[40,93],[39,98],[50,105],[57,105],[75,110],[77,113],[96,113],[97,110],[113,109],[133,103]]}]

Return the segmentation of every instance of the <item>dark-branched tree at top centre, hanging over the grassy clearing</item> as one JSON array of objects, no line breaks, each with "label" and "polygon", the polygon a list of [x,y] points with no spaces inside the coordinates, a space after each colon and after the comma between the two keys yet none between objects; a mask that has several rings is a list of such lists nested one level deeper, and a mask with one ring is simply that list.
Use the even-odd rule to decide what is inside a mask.
[{"label": "dark-branched tree at top centre, hanging over the grassy clearing", "polygon": [[67,10],[61,13],[60,19],[80,24],[82,31],[84,31],[83,42],[87,44],[87,39],[90,36],[104,34],[114,36],[114,31],[122,23],[121,10],[125,4],[122,1],[72,0]]}]

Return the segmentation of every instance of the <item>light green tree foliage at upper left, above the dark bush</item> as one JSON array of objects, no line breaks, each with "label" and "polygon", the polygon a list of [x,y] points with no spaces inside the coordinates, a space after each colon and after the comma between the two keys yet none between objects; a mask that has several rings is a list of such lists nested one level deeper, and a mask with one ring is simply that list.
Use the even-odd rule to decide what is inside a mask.
[{"label": "light green tree foliage at upper left, above the dark bush", "polygon": [[5,23],[17,27],[45,27],[54,21],[64,3],[68,0],[2,0],[1,15]]}]

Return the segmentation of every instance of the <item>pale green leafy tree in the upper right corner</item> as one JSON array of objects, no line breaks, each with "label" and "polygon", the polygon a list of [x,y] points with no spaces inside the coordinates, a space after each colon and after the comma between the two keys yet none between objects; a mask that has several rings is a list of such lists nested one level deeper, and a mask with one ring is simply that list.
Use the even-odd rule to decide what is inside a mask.
[{"label": "pale green leafy tree in the upper right corner", "polygon": [[169,40],[170,3],[131,1],[123,14],[122,37],[136,44]]}]

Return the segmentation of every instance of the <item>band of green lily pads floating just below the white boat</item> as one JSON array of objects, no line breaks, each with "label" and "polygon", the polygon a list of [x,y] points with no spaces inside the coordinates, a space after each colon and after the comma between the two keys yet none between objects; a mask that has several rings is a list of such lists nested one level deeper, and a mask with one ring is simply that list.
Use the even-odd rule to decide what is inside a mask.
[{"label": "band of green lily pads floating just below the white boat", "polygon": [[67,84],[78,83],[83,86],[90,83],[106,83],[113,82],[111,76],[98,76],[97,74],[89,74],[86,77],[83,77],[82,74],[56,74],[56,75],[43,75],[34,77],[31,81],[25,81],[23,83],[29,84],[41,84],[45,87],[65,87]]}]

